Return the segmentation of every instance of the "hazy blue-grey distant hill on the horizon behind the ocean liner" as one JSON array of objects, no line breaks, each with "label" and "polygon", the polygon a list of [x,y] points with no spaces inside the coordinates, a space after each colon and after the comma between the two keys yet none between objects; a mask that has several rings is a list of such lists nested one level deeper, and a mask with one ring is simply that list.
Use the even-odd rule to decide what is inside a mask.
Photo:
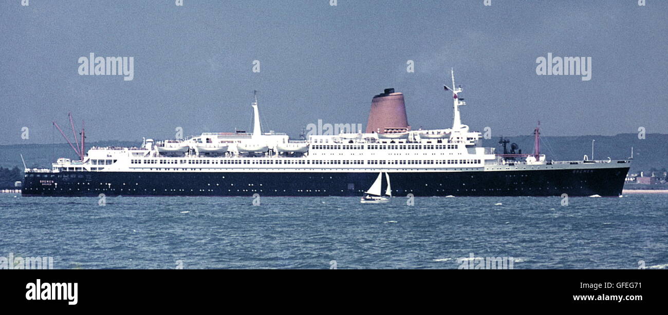
[{"label": "hazy blue-grey distant hill on the horizon behind the ocean liner", "polygon": [[[522,153],[531,153],[534,147],[532,135],[508,137],[511,143],[517,143]],[[591,140],[595,139],[594,158],[597,160],[624,159],[631,156],[633,146],[633,162],[631,172],[649,171],[651,168],[662,170],[668,168],[668,134],[649,133],[646,139],[638,139],[636,133],[621,133],[619,135],[581,135],[576,137],[542,137],[541,152],[547,155],[548,160],[582,160],[587,154],[591,155]],[[485,147],[496,147],[498,137],[483,139]],[[140,146],[135,141],[98,141],[86,143],[92,146]],[[510,148],[510,146],[508,146]],[[0,167],[13,168],[18,166],[23,170],[20,153],[25,158],[29,168],[51,168],[51,163],[57,158],[76,158],[73,150],[67,143],[57,144],[27,144],[27,145],[0,145]],[[591,157],[590,157],[591,158]]]}]

